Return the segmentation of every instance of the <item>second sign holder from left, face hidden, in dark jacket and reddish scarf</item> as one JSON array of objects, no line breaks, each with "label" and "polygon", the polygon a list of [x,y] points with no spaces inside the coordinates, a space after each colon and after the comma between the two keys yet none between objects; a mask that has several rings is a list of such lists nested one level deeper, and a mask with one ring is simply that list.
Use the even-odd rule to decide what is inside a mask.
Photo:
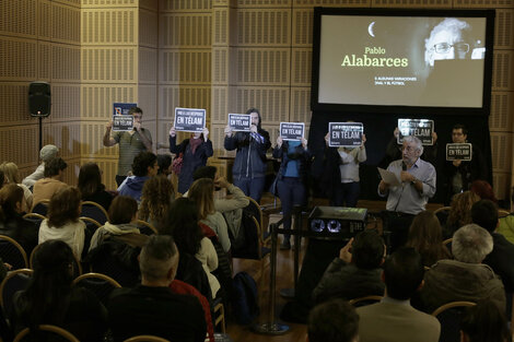
[{"label": "second sign holder from left, face hidden, in dark jacket and reddish scarf", "polygon": [[170,129],[170,152],[179,155],[182,153],[182,168],[178,175],[178,192],[186,193],[192,184],[192,174],[198,168],[206,166],[207,160],[212,156],[212,142],[209,140],[209,130],[195,132],[189,139],[183,140],[177,145],[177,132],[175,127]]}]

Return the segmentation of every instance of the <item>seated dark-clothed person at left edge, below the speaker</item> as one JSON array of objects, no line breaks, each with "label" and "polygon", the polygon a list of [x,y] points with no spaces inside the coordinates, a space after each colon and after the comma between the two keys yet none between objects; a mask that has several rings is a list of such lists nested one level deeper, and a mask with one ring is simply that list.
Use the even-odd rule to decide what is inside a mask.
[{"label": "seated dark-clothed person at left edge, below the speaker", "polygon": [[22,217],[23,189],[8,184],[0,189],[0,234],[15,239],[31,255],[37,246],[38,227]]}]

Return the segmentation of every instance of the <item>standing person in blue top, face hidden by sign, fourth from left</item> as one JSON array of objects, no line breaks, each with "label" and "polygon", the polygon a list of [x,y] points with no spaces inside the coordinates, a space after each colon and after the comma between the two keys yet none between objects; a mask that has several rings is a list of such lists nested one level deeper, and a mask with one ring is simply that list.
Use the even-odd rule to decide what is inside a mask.
[{"label": "standing person in blue top, face hidden by sign, fourth from left", "polygon": [[[273,158],[281,160],[277,174],[277,191],[282,203],[283,227],[291,229],[291,214],[294,205],[304,205],[307,189],[307,172],[311,153],[307,140],[285,141],[277,138]],[[291,248],[291,235],[285,234],[280,249]]]}]

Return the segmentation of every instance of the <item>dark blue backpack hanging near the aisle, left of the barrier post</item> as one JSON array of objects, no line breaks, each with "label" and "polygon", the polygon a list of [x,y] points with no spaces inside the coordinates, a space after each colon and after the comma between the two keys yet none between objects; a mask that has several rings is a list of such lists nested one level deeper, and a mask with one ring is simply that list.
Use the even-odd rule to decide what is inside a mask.
[{"label": "dark blue backpack hanging near the aisle, left of the barrier post", "polygon": [[247,272],[234,275],[232,311],[238,325],[249,325],[259,316],[257,283]]}]

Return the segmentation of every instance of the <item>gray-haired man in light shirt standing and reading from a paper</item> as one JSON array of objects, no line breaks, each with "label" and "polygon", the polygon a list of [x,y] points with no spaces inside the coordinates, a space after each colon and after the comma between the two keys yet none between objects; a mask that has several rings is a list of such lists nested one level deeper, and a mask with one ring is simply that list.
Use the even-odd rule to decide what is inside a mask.
[{"label": "gray-haired man in light shirt standing and reading from a paper", "polygon": [[435,193],[435,168],[420,158],[423,144],[417,137],[406,137],[401,145],[401,160],[394,161],[387,172],[397,182],[384,179],[378,184],[378,194],[387,196],[383,215],[384,231],[390,232],[389,250],[405,245],[414,216],[424,211],[429,198]]}]

